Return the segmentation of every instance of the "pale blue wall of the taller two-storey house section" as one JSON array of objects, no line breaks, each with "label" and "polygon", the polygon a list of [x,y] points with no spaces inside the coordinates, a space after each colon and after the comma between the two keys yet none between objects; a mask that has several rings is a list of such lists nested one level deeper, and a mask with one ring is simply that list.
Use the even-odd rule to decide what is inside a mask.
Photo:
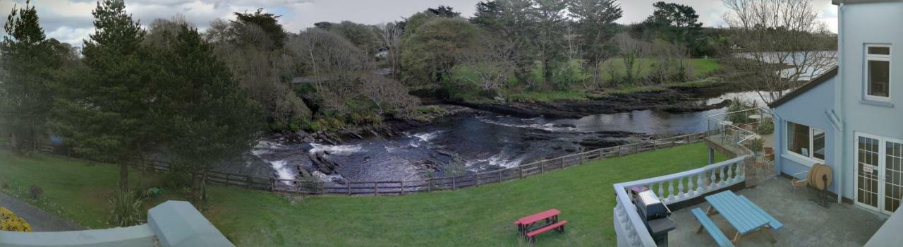
[{"label": "pale blue wall of the taller two-storey house section", "polygon": [[[853,197],[856,143],[855,133],[862,132],[888,138],[903,139],[903,3],[870,3],[845,5],[842,8],[840,73],[842,83],[835,95],[842,99],[843,125],[842,183],[844,197]],[[890,102],[864,100],[864,50],[866,43],[891,45]],[[835,173],[837,170],[835,170]]]}]

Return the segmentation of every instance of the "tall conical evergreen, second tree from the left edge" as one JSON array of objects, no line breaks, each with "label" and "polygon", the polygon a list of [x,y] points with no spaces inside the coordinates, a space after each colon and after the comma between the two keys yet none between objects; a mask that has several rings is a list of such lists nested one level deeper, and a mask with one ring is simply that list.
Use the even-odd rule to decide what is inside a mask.
[{"label": "tall conical evergreen, second tree from the left edge", "polygon": [[119,189],[128,189],[128,166],[166,133],[156,131],[154,87],[144,70],[144,30],[123,0],[98,2],[95,33],[85,41],[85,68],[61,86],[53,127],[79,155],[119,165]]}]

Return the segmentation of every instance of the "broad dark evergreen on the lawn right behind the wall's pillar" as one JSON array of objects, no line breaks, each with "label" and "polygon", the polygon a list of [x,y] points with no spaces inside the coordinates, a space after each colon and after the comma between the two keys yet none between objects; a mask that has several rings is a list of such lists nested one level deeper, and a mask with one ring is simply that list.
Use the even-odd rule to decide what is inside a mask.
[{"label": "broad dark evergreen on the lawn right behind the wall's pillar", "polygon": [[201,208],[207,172],[247,152],[264,128],[260,105],[233,79],[200,33],[180,24],[177,33],[163,33],[163,47],[154,50],[154,84],[161,86],[158,112],[173,133],[166,151],[192,172],[191,202]]}]

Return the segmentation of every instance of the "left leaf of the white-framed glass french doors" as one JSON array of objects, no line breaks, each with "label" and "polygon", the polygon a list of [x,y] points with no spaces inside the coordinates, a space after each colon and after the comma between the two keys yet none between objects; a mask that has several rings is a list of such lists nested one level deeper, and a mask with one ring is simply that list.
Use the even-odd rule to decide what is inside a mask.
[{"label": "left leaf of the white-framed glass french doors", "polygon": [[879,210],[880,140],[857,135],[856,204]]}]

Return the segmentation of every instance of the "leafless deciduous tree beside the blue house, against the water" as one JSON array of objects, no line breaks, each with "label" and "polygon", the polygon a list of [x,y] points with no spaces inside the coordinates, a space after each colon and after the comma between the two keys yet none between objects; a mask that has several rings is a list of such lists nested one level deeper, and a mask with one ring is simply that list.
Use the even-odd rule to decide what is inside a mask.
[{"label": "leafless deciduous tree beside the blue house, against the water", "polygon": [[749,86],[765,102],[836,64],[833,39],[824,38],[830,34],[812,0],[722,1],[732,39],[742,48],[737,56],[746,60],[741,69],[757,79]]}]

